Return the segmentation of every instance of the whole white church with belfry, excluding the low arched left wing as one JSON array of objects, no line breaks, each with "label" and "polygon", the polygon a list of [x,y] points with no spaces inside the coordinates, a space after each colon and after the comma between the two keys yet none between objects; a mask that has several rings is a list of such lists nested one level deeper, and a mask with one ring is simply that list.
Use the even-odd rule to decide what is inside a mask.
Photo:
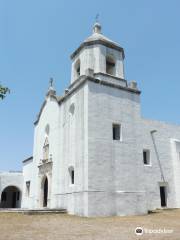
[{"label": "whole white church with belfry, excluding the low arched left wing", "polygon": [[95,23],[71,55],[64,95],[51,83],[33,157],[23,161],[22,208],[123,216],[180,207],[180,126],[141,117],[141,92],[124,79],[124,57]]}]

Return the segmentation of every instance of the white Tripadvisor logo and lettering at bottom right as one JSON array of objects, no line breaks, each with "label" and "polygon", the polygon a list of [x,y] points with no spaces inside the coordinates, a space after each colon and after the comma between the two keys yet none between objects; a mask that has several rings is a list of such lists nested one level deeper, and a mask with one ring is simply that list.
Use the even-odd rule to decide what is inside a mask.
[{"label": "white Tripadvisor logo and lettering at bottom right", "polygon": [[173,229],[167,229],[167,228],[150,229],[150,228],[137,227],[135,229],[135,234],[139,236],[143,234],[171,234],[173,232],[174,232]]}]

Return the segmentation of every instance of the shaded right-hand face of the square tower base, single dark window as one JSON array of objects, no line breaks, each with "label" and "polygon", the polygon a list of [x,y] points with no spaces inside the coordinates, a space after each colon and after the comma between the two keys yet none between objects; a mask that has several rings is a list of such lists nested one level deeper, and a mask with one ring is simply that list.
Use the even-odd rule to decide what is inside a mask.
[{"label": "shaded right-hand face of the square tower base, single dark window", "polygon": [[[139,96],[96,83],[88,86],[89,215],[145,213],[143,165],[136,141]],[[121,125],[121,141],[112,139],[113,123]]]}]

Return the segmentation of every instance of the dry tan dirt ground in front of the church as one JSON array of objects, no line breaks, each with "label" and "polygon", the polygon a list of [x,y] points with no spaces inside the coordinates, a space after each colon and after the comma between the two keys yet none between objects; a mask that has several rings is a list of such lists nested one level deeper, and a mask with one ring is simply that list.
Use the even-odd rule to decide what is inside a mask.
[{"label": "dry tan dirt ground in front of the church", "polygon": [[[137,236],[135,228],[144,228]],[[160,230],[159,230],[160,229]],[[169,233],[145,233],[145,231]],[[180,210],[146,216],[84,218],[66,214],[0,213],[0,240],[180,240]]]}]

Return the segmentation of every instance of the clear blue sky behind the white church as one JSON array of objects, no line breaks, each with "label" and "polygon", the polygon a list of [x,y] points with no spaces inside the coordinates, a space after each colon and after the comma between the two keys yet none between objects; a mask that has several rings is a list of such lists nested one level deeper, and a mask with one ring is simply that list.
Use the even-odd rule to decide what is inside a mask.
[{"label": "clear blue sky behind the white church", "polygon": [[92,33],[125,50],[125,78],[136,80],[144,118],[180,124],[179,0],[0,0],[0,171],[32,155],[34,121],[53,77],[70,83],[71,53]]}]

